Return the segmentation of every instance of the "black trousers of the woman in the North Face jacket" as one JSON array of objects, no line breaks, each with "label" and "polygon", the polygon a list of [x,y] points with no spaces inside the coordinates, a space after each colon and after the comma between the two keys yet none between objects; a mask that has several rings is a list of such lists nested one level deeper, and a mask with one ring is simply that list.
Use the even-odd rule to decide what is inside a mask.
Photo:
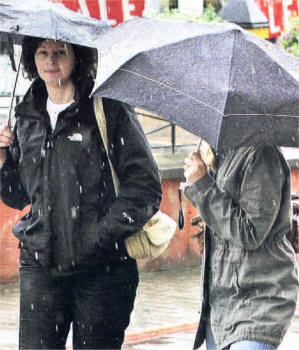
[{"label": "black trousers of the woman in the North Face jacket", "polygon": [[20,267],[20,349],[120,349],[130,322],[138,271],[134,260],[97,272],[55,277]]}]

